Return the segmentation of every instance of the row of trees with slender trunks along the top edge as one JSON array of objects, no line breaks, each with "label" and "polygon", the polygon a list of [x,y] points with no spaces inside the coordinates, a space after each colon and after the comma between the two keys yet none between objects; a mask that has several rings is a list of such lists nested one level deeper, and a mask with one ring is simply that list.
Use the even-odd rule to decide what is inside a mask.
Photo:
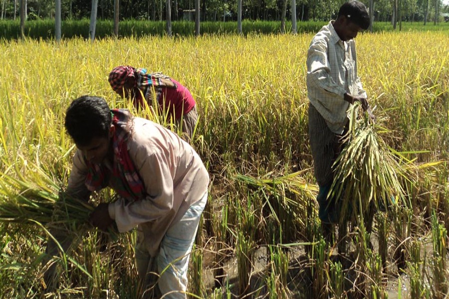
[{"label": "row of trees with slender trunks along the top edge", "polygon": [[[195,21],[195,33],[200,34],[201,21],[237,21],[241,33],[241,20],[280,20],[285,32],[285,20],[291,19],[291,31],[296,33],[296,21],[323,21],[335,18],[338,8],[346,0],[0,0],[1,19],[25,20],[54,18],[55,34],[66,19],[91,19],[91,37],[95,35],[95,21],[114,19],[114,33],[118,34],[119,21],[124,19],[159,20],[167,22],[171,35],[171,22]],[[443,0],[362,0],[369,8],[372,22],[391,21],[401,28],[403,21],[422,21],[424,24],[442,19],[449,13]]]}]

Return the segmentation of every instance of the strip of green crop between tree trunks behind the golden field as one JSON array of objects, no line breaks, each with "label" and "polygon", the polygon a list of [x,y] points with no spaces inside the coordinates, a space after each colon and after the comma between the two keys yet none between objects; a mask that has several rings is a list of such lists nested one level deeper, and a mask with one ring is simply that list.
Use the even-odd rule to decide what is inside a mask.
[{"label": "strip of green crop between tree trunks behind the golden field", "polygon": [[[298,33],[317,32],[325,21],[297,22]],[[242,21],[242,33],[248,34],[276,34],[280,32],[280,21]],[[95,38],[103,39],[113,36],[112,20],[97,20]],[[165,21],[143,21],[124,20],[120,22],[119,36],[121,37],[146,37],[166,35]],[[291,30],[291,22],[286,22],[287,32]],[[373,30],[375,32],[394,31],[389,22],[376,22]],[[449,23],[438,25],[421,23],[403,23],[404,31],[442,31],[449,34]],[[218,34],[229,35],[237,33],[236,22],[201,22],[200,32],[204,35]],[[195,34],[195,23],[188,21],[172,22],[172,34],[174,36],[193,36]],[[89,38],[89,20],[64,20],[61,27],[62,38],[83,37]],[[25,36],[34,39],[54,39],[54,20],[44,19],[27,21],[25,23]],[[20,37],[19,20],[0,20],[0,38],[17,39]]]}]

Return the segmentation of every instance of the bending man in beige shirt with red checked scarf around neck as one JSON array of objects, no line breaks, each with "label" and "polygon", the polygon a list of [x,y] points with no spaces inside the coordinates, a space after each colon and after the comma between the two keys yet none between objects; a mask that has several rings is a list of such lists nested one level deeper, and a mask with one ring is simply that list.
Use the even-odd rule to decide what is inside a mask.
[{"label": "bending man in beige shirt with red checked scarf around neck", "polygon": [[119,232],[137,227],[141,281],[156,269],[161,294],[170,293],[165,298],[186,298],[189,255],[209,184],[200,156],[166,128],[110,110],[98,97],[74,100],[65,128],[77,147],[66,192],[87,199],[113,188],[119,199],[100,203],[89,221],[101,230],[113,222]]}]

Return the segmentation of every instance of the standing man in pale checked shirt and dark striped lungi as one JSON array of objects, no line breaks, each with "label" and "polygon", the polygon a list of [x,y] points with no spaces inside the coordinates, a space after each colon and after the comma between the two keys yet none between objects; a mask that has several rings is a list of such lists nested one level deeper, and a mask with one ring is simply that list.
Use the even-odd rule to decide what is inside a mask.
[{"label": "standing man in pale checked shirt and dark striped lungi", "polygon": [[[307,93],[309,140],[315,177],[319,185],[318,216],[325,236],[331,223],[338,223],[339,208],[327,195],[333,181],[332,164],[342,148],[342,137],[349,122],[347,110],[359,101],[372,115],[366,91],[357,75],[354,38],[366,30],[370,19],[359,1],[344,3],[336,20],[323,26],[313,37],[307,53]],[[329,238],[329,236],[326,236]]]}]

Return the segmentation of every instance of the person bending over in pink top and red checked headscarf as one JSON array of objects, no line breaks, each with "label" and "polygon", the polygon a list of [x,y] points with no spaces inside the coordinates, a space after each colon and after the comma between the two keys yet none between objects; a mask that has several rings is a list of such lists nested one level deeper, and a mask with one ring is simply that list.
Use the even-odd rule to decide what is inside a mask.
[{"label": "person bending over in pink top and red checked headscarf", "polygon": [[187,139],[192,139],[198,121],[197,106],[190,91],[178,81],[161,73],[148,73],[144,68],[115,67],[109,74],[109,84],[121,97],[130,97],[137,109],[144,101],[151,107],[159,105],[159,115],[173,122]]}]

